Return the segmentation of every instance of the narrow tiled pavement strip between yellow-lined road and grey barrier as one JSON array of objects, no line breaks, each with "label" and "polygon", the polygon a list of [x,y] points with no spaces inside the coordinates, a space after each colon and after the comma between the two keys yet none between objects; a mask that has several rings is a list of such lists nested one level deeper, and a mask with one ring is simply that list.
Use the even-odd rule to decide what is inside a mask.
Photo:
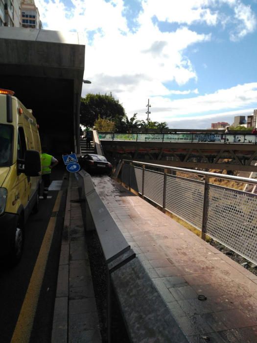
[{"label": "narrow tiled pavement strip between yellow-lined road and grey barrier", "polygon": [[70,174],[52,343],[101,343],[77,181]]}]

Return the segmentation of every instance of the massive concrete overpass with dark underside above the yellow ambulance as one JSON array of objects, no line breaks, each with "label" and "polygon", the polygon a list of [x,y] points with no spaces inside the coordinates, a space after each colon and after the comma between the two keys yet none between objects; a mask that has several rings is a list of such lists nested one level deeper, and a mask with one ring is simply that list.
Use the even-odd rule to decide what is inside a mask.
[{"label": "massive concrete overpass with dark underside above the yellow ambulance", "polygon": [[0,27],[0,88],[11,89],[57,156],[79,152],[85,45],[77,32]]}]

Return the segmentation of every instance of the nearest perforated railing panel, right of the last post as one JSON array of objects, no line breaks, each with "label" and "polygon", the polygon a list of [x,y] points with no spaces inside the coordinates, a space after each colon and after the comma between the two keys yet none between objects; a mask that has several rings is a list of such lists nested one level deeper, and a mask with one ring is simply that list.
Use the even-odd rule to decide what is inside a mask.
[{"label": "nearest perforated railing panel, right of the last post", "polygon": [[206,233],[257,262],[257,196],[208,185]]}]

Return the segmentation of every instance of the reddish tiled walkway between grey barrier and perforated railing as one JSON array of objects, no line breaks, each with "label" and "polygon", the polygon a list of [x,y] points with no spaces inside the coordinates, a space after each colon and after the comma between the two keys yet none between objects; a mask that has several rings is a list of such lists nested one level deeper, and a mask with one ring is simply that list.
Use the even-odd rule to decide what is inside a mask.
[{"label": "reddish tiled walkway between grey barrier and perforated railing", "polygon": [[256,275],[109,177],[93,183],[189,342],[257,342]]}]

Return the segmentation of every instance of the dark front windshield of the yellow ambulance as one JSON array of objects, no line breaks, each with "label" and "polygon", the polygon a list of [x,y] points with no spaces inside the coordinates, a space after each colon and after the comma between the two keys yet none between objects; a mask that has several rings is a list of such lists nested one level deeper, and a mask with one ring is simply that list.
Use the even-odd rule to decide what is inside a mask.
[{"label": "dark front windshield of the yellow ambulance", "polygon": [[12,164],[13,126],[0,124],[0,167]]}]

